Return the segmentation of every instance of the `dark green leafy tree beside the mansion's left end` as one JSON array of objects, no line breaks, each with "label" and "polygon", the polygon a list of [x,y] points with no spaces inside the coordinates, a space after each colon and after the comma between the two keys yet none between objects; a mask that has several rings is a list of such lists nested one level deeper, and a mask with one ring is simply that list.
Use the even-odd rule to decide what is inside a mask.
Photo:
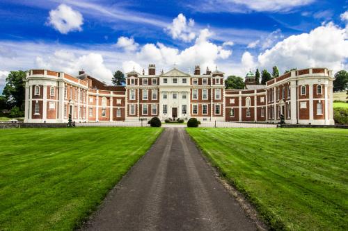
[{"label": "dark green leafy tree beside the mansion's left end", "polygon": [[10,108],[17,106],[24,110],[25,77],[24,71],[10,71],[6,78],[2,94]]}]

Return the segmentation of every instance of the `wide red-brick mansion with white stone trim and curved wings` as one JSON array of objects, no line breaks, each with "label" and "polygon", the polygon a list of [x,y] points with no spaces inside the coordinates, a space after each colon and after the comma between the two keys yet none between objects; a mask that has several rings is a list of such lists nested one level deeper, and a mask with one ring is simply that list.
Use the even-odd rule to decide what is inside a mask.
[{"label": "wide red-brick mansion with white stone trim and curved wings", "polygon": [[126,74],[125,86],[106,85],[84,71],[32,69],[26,73],[25,119],[27,123],[76,123],[189,119],[333,124],[333,74],[326,68],[290,71],[256,85],[246,75],[246,89],[226,89],[224,73],[199,66],[193,74],[177,68],[145,74]]}]

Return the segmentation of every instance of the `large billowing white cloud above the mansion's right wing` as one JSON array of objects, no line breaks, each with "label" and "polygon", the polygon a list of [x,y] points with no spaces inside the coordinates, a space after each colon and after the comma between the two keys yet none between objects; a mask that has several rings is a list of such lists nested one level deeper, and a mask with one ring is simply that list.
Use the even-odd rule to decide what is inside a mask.
[{"label": "large billowing white cloud above the mansion's right wing", "polygon": [[310,33],[292,35],[258,55],[261,67],[328,67],[338,71],[348,58],[346,29],[333,23],[319,26]]}]

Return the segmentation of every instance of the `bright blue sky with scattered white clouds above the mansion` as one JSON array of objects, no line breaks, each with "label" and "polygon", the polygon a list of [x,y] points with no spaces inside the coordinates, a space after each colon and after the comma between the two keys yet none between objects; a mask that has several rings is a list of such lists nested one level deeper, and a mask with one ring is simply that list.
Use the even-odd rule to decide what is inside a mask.
[{"label": "bright blue sky with scattered white clouds above the mansion", "polygon": [[[10,70],[184,71],[226,74],[278,65],[347,67],[346,0],[0,2],[0,91]],[[319,51],[318,51],[319,50]]]}]

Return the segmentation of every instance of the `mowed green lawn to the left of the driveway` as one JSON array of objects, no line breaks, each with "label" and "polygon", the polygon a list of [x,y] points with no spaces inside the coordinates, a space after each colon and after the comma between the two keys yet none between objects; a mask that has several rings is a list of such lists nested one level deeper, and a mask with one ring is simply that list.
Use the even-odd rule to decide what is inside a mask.
[{"label": "mowed green lawn to the left of the driveway", "polygon": [[0,230],[73,230],[161,128],[0,130]]}]

